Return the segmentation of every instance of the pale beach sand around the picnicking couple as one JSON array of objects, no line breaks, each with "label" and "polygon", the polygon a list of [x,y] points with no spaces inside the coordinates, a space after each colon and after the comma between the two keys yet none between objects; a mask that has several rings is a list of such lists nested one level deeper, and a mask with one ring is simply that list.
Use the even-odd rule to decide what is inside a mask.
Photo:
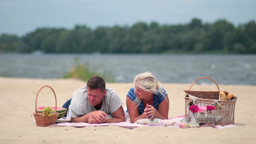
[{"label": "pale beach sand around the picnicking couple", "polygon": [[[217,82],[218,83],[218,82]],[[0,77],[0,144],[254,144],[256,143],[256,85],[219,85],[220,90],[237,96],[236,127],[180,129],[175,127],[117,126],[38,127],[34,121],[38,90],[51,86],[57,96],[57,107],[71,98],[73,92],[86,85],[74,79],[26,79]],[[184,89],[191,84],[162,84],[170,99],[169,118],[184,115]],[[125,104],[129,84],[107,83]],[[194,84],[193,90],[218,90],[215,84]],[[55,106],[54,94],[45,87],[39,93],[38,106]]]}]

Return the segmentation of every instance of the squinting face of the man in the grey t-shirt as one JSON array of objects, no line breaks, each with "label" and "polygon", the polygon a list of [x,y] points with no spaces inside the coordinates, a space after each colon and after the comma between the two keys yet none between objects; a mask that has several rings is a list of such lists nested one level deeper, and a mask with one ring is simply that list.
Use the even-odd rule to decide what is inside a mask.
[{"label": "squinting face of the man in the grey t-shirt", "polygon": [[106,95],[106,90],[101,92],[100,89],[90,89],[87,87],[87,98],[91,106],[95,107],[101,104],[103,97]]}]

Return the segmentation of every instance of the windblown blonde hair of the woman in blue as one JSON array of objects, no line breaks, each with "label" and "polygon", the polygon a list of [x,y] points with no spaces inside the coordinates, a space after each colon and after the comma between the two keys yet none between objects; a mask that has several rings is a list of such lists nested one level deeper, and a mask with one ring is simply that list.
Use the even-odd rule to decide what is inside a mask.
[{"label": "windblown blonde hair of the woman in blue", "polygon": [[[144,72],[136,75],[134,78],[134,89],[135,86],[143,89],[146,92],[150,92],[157,95],[164,96],[163,89],[160,86],[160,82],[150,72]],[[142,99],[136,97],[134,100],[137,106],[141,103]]]}]

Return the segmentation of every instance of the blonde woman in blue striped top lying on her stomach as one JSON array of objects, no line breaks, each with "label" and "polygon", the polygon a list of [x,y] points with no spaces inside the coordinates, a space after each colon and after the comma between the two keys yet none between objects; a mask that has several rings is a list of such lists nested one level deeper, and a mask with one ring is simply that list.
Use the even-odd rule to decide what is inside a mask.
[{"label": "blonde woman in blue striped top lying on her stomach", "polygon": [[150,72],[138,74],[126,97],[131,122],[139,119],[168,119],[169,98]]}]

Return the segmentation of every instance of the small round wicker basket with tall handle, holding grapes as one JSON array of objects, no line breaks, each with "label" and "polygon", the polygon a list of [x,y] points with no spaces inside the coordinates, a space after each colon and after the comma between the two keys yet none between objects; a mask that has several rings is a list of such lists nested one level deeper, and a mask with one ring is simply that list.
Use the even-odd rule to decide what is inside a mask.
[{"label": "small round wicker basket with tall handle, holding grapes", "polygon": [[[42,88],[44,87],[49,87],[53,93],[54,93],[54,96],[55,96],[55,111],[53,112],[53,115],[52,116],[43,116],[42,112],[41,111],[37,111],[37,97],[38,97],[38,94],[39,92],[41,91]],[[35,103],[35,106],[36,106],[36,112],[34,112],[34,117],[35,117],[35,120],[37,122],[37,126],[41,126],[41,127],[47,127],[51,124],[55,124],[56,123],[56,120],[58,118],[58,116],[60,115],[58,112],[56,112],[56,108],[57,108],[57,98],[56,98],[56,94],[54,92],[54,90],[50,87],[50,86],[43,86],[39,89],[39,91],[37,92],[37,97],[36,97],[36,103]]]}]

